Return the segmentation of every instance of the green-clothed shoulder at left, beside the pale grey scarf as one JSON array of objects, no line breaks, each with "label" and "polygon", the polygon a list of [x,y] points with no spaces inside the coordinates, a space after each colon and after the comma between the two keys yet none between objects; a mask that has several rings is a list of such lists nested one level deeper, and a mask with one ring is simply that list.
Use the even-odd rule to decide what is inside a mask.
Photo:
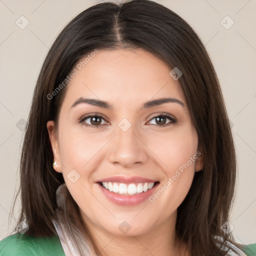
[{"label": "green-clothed shoulder at left, beside the pale grey scarf", "polygon": [[64,256],[64,251],[57,235],[35,237],[15,233],[0,241],[0,256]]}]

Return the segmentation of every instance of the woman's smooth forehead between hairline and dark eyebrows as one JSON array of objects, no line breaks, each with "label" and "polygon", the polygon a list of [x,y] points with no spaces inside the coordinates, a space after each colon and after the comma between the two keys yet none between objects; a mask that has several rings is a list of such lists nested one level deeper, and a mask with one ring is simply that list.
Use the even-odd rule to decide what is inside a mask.
[{"label": "woman's smooth forehead between hairline and dark eyebrows", "polygon": [[180,83],[169,75],[171,67],[143,49],[98,50],[86,61],[82,57],[74,69],[64,100],[70,106],[79,97],[120,105],[170,96],[185,103]]}]

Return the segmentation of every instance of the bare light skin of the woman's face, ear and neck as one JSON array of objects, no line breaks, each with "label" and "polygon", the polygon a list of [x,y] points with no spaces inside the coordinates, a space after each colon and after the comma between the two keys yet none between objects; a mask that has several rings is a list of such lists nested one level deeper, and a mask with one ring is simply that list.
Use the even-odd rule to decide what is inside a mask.
[{"label": "bare light skin of the woman's face, ear and neck", "polygon": [[[54,130],[53,121],[47,122],[57,161],[54,169],[62,172],[84,222],[102,249],[100,255],[189,255],[177,249],[174,227],[177,207],[195,171],[203,168],[202,154],[154,202],[116,205],[95,183],[114,175],[136,175],[158,180],[160,188],[200,149],[181,85],[169,75],[170,70],[143,49],[100,50],[67,85],[58,129]],[[81,96],[107,101],[113,108],[87,103],[71,107]],[[141,108],[145,101],[162,97],[177,98],[185,107],[167,102]],[[84,125],[92,124],[92,118],[79,123],[79,118],[95,112],[103,115],[96,120],[98,127]],[[161,113],[170,114],[176,122],[166,118],[157,123],[152,116]],[[118,126],[123,118],[131,124],[127,131]],[[80,175],[74,183],[67,177],[72,169]],[[123,221],[131,227],[126,234],[118,228]]]}]

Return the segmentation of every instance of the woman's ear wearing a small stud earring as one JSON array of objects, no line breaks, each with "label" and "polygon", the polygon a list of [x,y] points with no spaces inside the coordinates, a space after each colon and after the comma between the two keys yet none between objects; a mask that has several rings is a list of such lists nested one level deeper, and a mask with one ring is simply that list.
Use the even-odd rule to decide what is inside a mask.
[{"label": "woman's ear wearing a small stud earring", "polygon": [[53,152],[54,162],[56,161],[56,164],[53,165],[53,168],[57,172],[61,172],[62,165],[61,165],[61,158],[59,155],[59,145],[58,145],[58,139],[56,131],[54,130],[54,121],[47,121],[47,130],[49,134],[51,149]]}]

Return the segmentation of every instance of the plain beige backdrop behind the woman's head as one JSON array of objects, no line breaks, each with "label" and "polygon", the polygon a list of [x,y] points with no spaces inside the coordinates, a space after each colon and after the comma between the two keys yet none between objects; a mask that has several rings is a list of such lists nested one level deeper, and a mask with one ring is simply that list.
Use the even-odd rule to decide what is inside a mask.
[{"label": "plain beige backdrop behind the woman's head", "polygon": [[[43,59],[64,25],[97,2],[0,0],[0,239],[8,231],[10,206],[18,185],[22,125]],[[233,124],[238,158],[237,196],[231,215],[233,234],[237,242],[256,242],[256,0],[157,2],[194,28],[212,59]],[[25,25],[25,18],[22,24],[19,18],[22,15],[29,22],[23,29],[19,27]],[[223,27],[232,22],[224,18],[226,15],[234,21],[229,29]],[[18,208],[11,216],[13,221],[17,213]]]}]

